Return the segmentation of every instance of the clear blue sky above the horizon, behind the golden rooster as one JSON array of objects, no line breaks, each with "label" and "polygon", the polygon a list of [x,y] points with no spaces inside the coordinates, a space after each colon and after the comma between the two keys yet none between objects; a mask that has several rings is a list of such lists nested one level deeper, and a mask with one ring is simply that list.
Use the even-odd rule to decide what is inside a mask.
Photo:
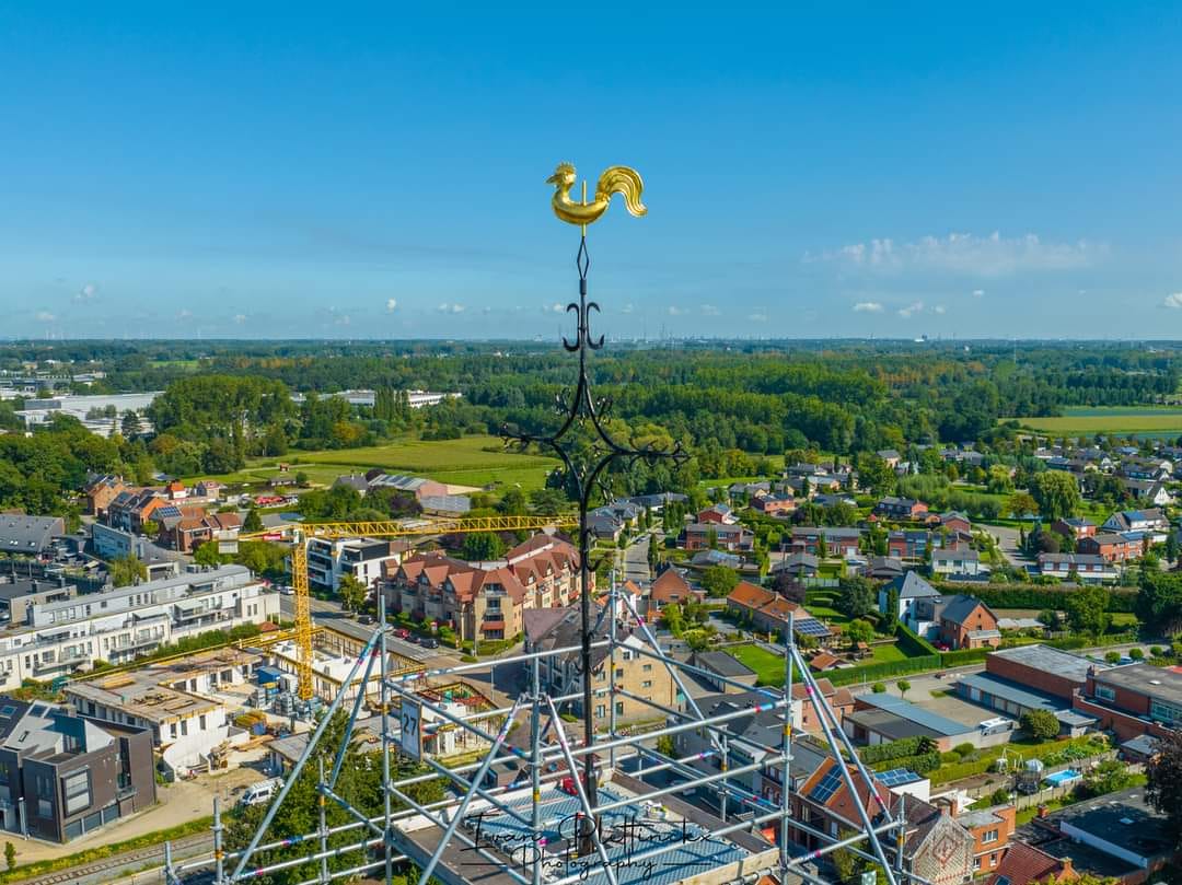
[{"label": "clear blue sky above the horizon, behind the golden rooster", "polygon": [[1180,5],[423,6],[0,2],[0,336],[1182,338]]}]

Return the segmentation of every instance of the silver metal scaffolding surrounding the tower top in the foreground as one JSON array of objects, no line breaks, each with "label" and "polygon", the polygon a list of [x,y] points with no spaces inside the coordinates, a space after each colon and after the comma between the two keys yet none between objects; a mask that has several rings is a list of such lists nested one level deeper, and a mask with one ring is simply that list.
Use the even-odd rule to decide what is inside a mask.
[{"label": "silver metal scaffolding surrounding the tower top in the foreground", "polygon": [[[379,624],[384,624],[384,605],[381,614]],[[629,631],[629,633],[641,638],[643,646],[638,648],[636,643],[625,646],[623,640],[618,638],[617,627],[621,625],[634,627],[635,630]],[[454,865],[454,854],[449,854],[449,851],[454,851],[457,846],[495,866],[505,877],[521,885],[573,885],[576,881],[587,880],[596,876],[602,876],[600,881],[606,883],[606,885],[629,885],[631,881],[639,881],[638,878],[630,877],[629,872],[637,871],[639,865],[651,871],[655,866],[661,865],[662,858],[673,855],[684,842],[668,840],[664,844],[660,841],[651,844],[650,840],[638,837],[629,842],[628,826],[621,824],[618,815],[628,812],[635,813],[639,800],[624,798],[603,801],[600,796],[600,801],[592,805],[586,785],[580,776],[585,770],[586,761],[592,760],[595,780],[591,788],[597,793],[603,793],[602,787],[610,783],[613,775],[622,774],[621,767],[628,763],[630,763],[628,774],[635,779],[643,779],[645,775],[652,775],[657,772],[668,772],[678,775],[678,782],[675,786],[645,788],[643,801],[652,802],[667,796],[690,794],[710,799],[713,800],[710,803],[720,809],[720,825],[710,829],[712,839],[720,840],[723,837],[743,833],[748,837],[747,845],[751,845],[749,838],[758,838],[766,842],[766,852],[749,850],[742,863],[738,865],[734,863],[721,864],[717,871],[720,877],[716,879],[719,883],[735,883],[738,885],[738,883],[755,881],[761,876],[773,876],[781,883],[797,877],[800,881],[824,885],[830,880],[823,878],[816,861],[838,848],[845,848],[857,857],[877,863],[879,865],[879,881],[885,881],[888,885],[902,885],[902,883],[931,885],[927,879],[907,868],[904,852],[901,850],[907,838],[905,815],[892,815],[888,807],[878,807],[871,812],[866,807],[866,802],[863,801],[855,777],[859,776],[863,785],[872,785],[873,781],[858,760],[857,753],[853,751],[853,747],[838,724],[837,716],[825,702],[816,679],[800,656],[792,638],[791,616],[784,653],[784,686],[780,689],[758,689],[764,699],[756,705],[706,715],[686,690],[682,675],[708,676],[716,684],[725,684],[742,691],[752,689],[743,683],[704,671],[668,655],[649,630],[645,619],[638,613],[628,593],[612,587],[606,594],[600,623],[596,631],[597,636],[602,633],[604,638],[592,642],[592,648],[604,651],[604,661],[609,665],[613,665],[616,656],[626,648],[630,653],[638,653],[665,668],[674,684],[680,686],[681,703],[677,708],[670,708],[655,701],[648,701],[637,694],[629,692],[622,685],[617,685],[615,678],[610,677],[606,686],[610,710],[615,711],[617,699],[623,698],[647,703],[655,715],[664,717],[664,724],[644,734],[628,734],[626,729],[618,727],[617,717],[612,715],[608,729],[597,733],[596,740],[590,746],[582,741],[571,742],[558,712],[563,704],[570,701],[582,701],[582,690],[556,697],[547,691],[547,685],[543,679],[547,661],[569,655],[577,656],[583,651],[582,645],[557,648],[544,652],[531,651],[493,662],[460,664],[427,671],[426,675],[429,677],[441,677],[455,682],[459,677],[489,670],[492,666],[517,664],[524,665],[527,670],[528,684],[511,707],[457,714],[444,703],[433,699],[431,692],[420,694],[416,691],[407,676],[388,672],[388,633],[389,629],[383,630],[381,626],[375,629],[365,648],[353,662],[349,677],[336,699],[311,734],[304,753],[286,776],[282,788],[272,800],[249,845],[240,851],[227,852],[225,850],[226,827],[222,809],[215,800],[212,854],[175,863],[171,859],[170,846],[168,846],[165,881],[171,885],[184,885],[193,877],[194,881],[232,885],[232,883],[248,879],[260,879],[268,873],[294,866],[316,864],[317,876],[301,885],[326,885],[337,879],[362,874],[390,883],[396,872],[414,864],[421,871],[418,885],[427,885],[433,876],[442,881],[455,883],[465,880],[462,871]],[[268,829],[275,813],[286,800],[292,785],[313,759],[329,721],[345,704],[348,688],[358,677],[362,679],[361,684],[364,684],[375,666],[381,669],[382,814],[376,818],[366,816],[336,790],[350,737],[364,704],[365,692],[358,691],[349,711],[345,738],[340,747],[336,748],[331,769],[326,773],[323,761],[319,766],[317,775],[317,793],[320,806],[319,828],[310,833],[286,834],[285,838],[268,840]],[[834,837],[824,829],[811,826],[793,811],[790,774],[793,746],[797,738],[791,712],[794,679],[804,686],[806,702],[812,707],[817,722],[820,724],[824,743],[838,761],[837,768],[853,800],[862,827],[852,835]],[[435,697],[437,698],[437,696]],[[397,702],[402,702],[400,709],[413,708],[417,710],[418,715],[409,720],[400,717],[400,721],[396,722],[390,710]],[[735,720],[768,711],[779,714],[778,718],[782,721],[782,743],[779,746],[758,743],[741,734],[732,733],[728,728]],[[584,714],[586,712],[590,711],[584,710]],[[488,721],[499,716],[504,716],[499,729],[495,733],[489,731],[486,728]],[[414,736],[404,731],[403,725],[414,728],[418,723],[426,723],[423,728],[430,731],[433,729],[430,723],[439,722],[447,723],[449,728],[467,730],[474,737],[487,742],[491,749],[481,761],[455,768],[423,756],[433,774],[395,777],[391,774],[394,767],[391,761],[395,759],[395,754],[403,753],[415,743]],[[527,735],[527,742],[521,746],[512,744],[507,740],[514,727],[520,727]],[[708,740],[710,749],[684,757],[670,756],[657,749],[658,738],[687,731],[695,731]],[[732,767],[729,755],[736,748],[759,750],[769,755],[765,755],[762,761],[755,764]],[[668,747],[665,749],[668,750]],[[409,755],[414,755],[414,753],[411,751]],[[695,767],[695,762],[704,759],[714,759],[719,762],[716,773],[703,773],[701,768]],[[486,775],[505,763],[514,763],[519,767],[515,781],[489,786]],[[603,767],[604,763],[608,764],[606,768]],[[758,795],[735,780],[738,776],[754,770],[773,768],[779,769],[778,777],[781,787],[779,802]],[[443,800],[430,806],[418,805],[407,794],[407,787],[431,777],[446,780],[447,795]],[[592,826],[577,826],[577,834],[580,838],[571,839],[571,845],[563,850],[565,853],[554,854],[547,852],[547,847],[550,847],[547,834],[552,835],[567,825],[569,814],[563,812],[561,816],[556,816],[553,802],[544,801],[544,796],[552,799],[553,790],[558,789],[560,785],[567,792],[573,789],[577,800],[576,822],[589,820],[592,821]],[[518,795],[522,790],[528,793],[528,801],[524,803]],[[873,795],[872,790],[868,795]],[[352,821],[337,827],[326,827],[324,824],[325,806],[329,802],[343,808],[352,818]],[[396,803],[402,807],[396,808]],[[479,833],[474,837],[470,827],[466,825],[473,819],[470,811],[475,803],[480,806],[480,811],[475,815],[480,819],[504,815],[506,820],[512,821],[517,832],[524,834],[520,844],[509,846],[504,840],[482,839]],[[441,835],[435,840],[433,851],[423,851],[403,829],[403,825],[413,819],[417,820],[420,825],[427,822],[441,832]],[[766,828],[775,831],[775,842],[767,841],[760,835],[761,831]],[[821,847],[811,851],[799,848],[793,845],[790,838],[793,831],[812,835],[821,844]],[[356,833],[356,839],[348,845],[330,847],[329,837],[344,832]],[[584,833],[590,835],[590,851],[578,850]],[[527,842],[532,842],[532,845],[527,846]],[[293,846],[304,846],[304,851],[298,857],[285,855],[281,860],[272,859],[268,863],[271,852],[285,850],[290,854]],[[348,867],[330,870],[330,858],[349,858]],[[622,866],[622,860],[625,858],[626,864]],[[449,865],[449,859],[453,860],[453,865]],[[561,873],[553,872],[556,866],[561,870]],[[676,864],[670,861],[669,866],[676,867]],[[703,870],[694,868],[687,871],[684,878],[689,878],[690,874],[700,877],[702,873]],[[676,880],[678,879],[673,879],[673,881]]]}]

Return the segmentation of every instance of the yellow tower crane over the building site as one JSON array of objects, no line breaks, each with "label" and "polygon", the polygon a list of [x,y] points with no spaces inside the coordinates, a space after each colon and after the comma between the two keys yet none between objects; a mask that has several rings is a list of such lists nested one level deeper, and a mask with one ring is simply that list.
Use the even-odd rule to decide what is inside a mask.
[{"label": "yellow tower crane over the building site", "polygon": [[521,532],[578,525],[578,516],[470,516],[468,519],[358,520],[356,522],[296,522],[241,534],[239,541],[290,541],[292,588],[296,591],[296,648],[299,696],[312,697],[312,606],[307,588],[307,542],[312,538],[413,538],[472,532]]}]

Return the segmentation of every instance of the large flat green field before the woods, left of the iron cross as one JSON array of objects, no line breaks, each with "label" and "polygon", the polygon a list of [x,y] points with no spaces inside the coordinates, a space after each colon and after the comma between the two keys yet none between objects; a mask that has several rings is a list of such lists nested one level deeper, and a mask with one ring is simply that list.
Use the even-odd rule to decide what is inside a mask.
[{"label": "large flat green field before the woods, left of the iron cross", "polygon": [[233,474],[187,479],[265,482],[279,473],[280,462],[290,464],[292,471],[306,473],[313,483],[323,486],[331,484],[342,474],[364,473],[377,467],[455,486],[520,484],[527,492],[540,488],[546,474],[558,464],[551,457],[505,451],[495,436],[466,436],[431,442],[410,440],[364,449],[292,450],[282,457],[252,458],[246,469]]}]

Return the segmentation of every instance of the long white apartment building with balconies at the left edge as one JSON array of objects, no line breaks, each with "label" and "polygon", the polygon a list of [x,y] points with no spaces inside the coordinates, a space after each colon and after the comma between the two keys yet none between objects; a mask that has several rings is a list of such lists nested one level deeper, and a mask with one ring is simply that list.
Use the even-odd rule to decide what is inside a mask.
[{"label": "long white apartment building with balconies at the left edge", "polygon": [[278,616],[279,594],[238,565],[33,606],[31,626],[0,631],[0,691]]}]

